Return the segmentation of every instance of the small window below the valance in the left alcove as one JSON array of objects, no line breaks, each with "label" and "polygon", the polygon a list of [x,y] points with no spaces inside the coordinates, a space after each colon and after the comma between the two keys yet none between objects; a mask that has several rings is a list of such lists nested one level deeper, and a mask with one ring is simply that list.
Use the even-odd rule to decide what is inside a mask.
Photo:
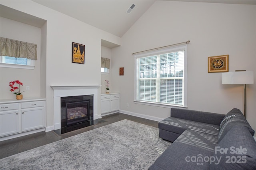
[{"label": "small window below the valance in the left alcove", "polygon": [[1,67],[34,69],[34,60],[28,58],[1,56],[0,64]]}]

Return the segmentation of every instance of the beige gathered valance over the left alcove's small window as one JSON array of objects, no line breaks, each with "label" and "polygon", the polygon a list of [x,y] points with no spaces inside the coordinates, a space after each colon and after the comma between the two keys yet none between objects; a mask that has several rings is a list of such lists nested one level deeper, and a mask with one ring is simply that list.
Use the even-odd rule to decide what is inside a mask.
[{"label": "beige gathered valance over the left alcove's small window", "polygon": [[0,37],[0,56],[37,60],[36,44]]}]

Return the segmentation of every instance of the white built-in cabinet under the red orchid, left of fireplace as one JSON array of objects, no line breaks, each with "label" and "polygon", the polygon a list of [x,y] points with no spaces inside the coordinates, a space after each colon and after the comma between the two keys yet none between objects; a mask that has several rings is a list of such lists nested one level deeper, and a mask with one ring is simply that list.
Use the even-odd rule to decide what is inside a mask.
[{"label": "white built-in cabinet under the red orchid, left of fireplace", "polygon": [[1,100],[1,140],[15,138],[45,130],[46,101],[42,98]]}]

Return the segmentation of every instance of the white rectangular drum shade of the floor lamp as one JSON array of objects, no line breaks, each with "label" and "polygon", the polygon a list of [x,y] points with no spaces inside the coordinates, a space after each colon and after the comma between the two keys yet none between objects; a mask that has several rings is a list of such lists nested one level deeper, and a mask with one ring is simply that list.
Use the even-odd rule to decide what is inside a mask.
[{"label": "white rectangular drum shade of the floor lamp", "polygon": [[253,84],[252,71],[222,73],[222,84]]}]

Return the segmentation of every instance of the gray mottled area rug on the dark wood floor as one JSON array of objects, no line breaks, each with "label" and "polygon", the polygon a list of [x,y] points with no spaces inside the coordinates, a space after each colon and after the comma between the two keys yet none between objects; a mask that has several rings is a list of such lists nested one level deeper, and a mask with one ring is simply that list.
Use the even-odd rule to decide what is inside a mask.
[{"label": "gray mottled area rug on the dark wood floor", "polygon": [[147,170],[170,146],[158,128],[122,120],[0,160],[1,170]]}]

